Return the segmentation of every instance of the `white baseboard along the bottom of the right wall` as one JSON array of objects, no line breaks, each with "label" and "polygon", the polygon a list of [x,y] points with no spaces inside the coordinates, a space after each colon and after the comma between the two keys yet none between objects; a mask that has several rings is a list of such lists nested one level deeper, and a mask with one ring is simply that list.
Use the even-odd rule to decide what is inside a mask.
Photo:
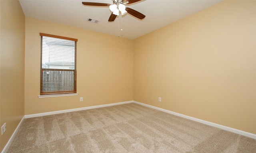
[{"label": "white baseboard along the bottom of the right wall", "polygon": [[189,120],[192,120],[192,121],[196,121],[196,122],[199,122],[199,123],[202,123],[202,124],[206,124],[208,126],[213,126],[213,127],[216,127],[216,128],[220,128],[220,129],[224,129],[226,131],[230,131],[230,132],[233,132],[233,133],[237,133],[237,134],[240,134],[240,135],[244,135],[246,137],[250,137],[252,139],[256,139],[256,134],[253,134],[253,133],[248,133],[248,132],[245,132],[245,131],[241,131],[239,129],[234,129],[234,128],[230,128],[230,127],[227,127],[227,126],[222,126],[220,124],[215,124],[215,123],[212,123],[212,122],[208,122],[208,121],[205,121],[205,120],[200,120],[198,118],[193,118],[193,117],[190,117],[190,116],[186,116],[186,115],[183,115],[183,114],[179,114],[179,113],[176,113],[176,112],[172,112],[170,110],[165,110],[165,109],[162,109],[162,108],[158,108],[158,107],[155,107],[155,106],[151,106],[151,105],[148,105],[148,104],[143,104],[141,102],[136,102],[136,101],[133,101],[134,103],[136,104],[140,104],[142,106],[146,106],[146,107],[149,107],[149,108],[153,108],[153,109],[156,109],[156,110],[160,110],[162,112],[166,112],[166,113],[169,113],[169,114],[173,114],[175,116],[180,116],[182,118],[186,118],[186,119],[189,119]]}]

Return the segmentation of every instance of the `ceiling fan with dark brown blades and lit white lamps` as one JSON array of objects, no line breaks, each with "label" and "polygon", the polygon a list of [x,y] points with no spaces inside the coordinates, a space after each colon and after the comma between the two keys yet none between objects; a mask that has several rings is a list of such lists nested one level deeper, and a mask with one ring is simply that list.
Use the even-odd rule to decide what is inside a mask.
[{"label": "ceiling fan with dark brown blades and lit white lamps", "polygon": [[107,4],[107,3],[94,3],[94,2],[82,2],[82,4],[87,6],[109,6],[110,10],[112,11],[112,14],[110,15],[108,21],[113,22],[116,19],[116,16],[119,15],[119,11],[121,12],[121,15],[128,13],[141,20],[144,19],[146,16],[144,16],[143,14],[141,14],[136,10],[127,8],[125,6],[126,4],[132,4],[138,1],[141,1],[141,0],[113,0],[113,5]]}]

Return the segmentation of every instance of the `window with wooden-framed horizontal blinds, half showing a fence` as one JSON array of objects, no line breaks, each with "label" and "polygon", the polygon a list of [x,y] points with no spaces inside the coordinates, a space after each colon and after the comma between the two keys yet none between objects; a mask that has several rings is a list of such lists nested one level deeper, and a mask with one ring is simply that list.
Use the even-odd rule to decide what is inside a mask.
[{"label": "window with wooden-framed horizontal blinds, half showing a fence", "polygon": [[77,39],[40,33],[40,95],[76,93]]}]

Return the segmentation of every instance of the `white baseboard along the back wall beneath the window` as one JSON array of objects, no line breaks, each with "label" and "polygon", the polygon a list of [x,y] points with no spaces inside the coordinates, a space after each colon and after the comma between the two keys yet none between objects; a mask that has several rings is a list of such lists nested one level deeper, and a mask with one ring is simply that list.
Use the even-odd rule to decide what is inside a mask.
[{"label": "white baseboard along the back wall beneath the window", "polygon": [[59,111],[54,111],[54,112],[31,114],[31,115],[25,115],[25,118],[34,118],[34,117],[39,117],[39,116],[47,116],[47,115],[75,112],[75,111],[80,111],[80,110],[90,110],[90,109],[94,109],[94,108],[108,107],[108,106],[114,106],[114,105],[120,105],[120,104],[128,104],[128,103],[132,103],[132,102],[133,101],[117,102],[117,103],[112,103],[112,104],[104,104],[104,105],[97,105],[97,106],[74,108],[74,109],[69,109],[69,110],[59,110]]}]

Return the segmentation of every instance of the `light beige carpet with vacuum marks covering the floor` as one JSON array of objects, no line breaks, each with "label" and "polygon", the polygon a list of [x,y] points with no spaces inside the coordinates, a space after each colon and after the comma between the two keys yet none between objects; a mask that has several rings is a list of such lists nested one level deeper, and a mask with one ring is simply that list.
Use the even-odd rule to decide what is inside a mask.
[{"label": "light beige carpet with vacuum marks covering the floor", "polygon": [[25,119],[7,153],[256,153],[256,139],[129,103]]}]

